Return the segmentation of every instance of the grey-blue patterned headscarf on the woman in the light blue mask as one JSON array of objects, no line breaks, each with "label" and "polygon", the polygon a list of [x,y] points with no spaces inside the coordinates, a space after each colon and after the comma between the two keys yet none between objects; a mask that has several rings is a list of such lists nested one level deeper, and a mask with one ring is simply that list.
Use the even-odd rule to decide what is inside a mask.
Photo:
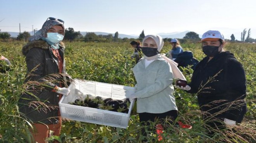
[{"label": "grey-blue patterned headscarf on the woman in the light blue mask", "polygon": [[60,25],[63,28],[63,35],[65,35],[65,27],[61,22],[59,22],[58,20],[47,20],[43,24],[42,29],[38,30],[32,37],[29,38],[29,42],[39,39],[45,39],[47,31],[55,25]]}]

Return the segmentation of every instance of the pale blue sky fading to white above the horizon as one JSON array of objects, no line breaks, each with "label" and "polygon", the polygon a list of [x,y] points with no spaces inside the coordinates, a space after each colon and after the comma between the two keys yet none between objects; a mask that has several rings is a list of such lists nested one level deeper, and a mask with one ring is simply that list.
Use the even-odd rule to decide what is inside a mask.
[{"label": "pale blue sky fading to white above the horizon", "polygon": [[47,17],[75,31],[139,35],[219,30],[256,39],[256,0],[0,0],[1,31],[40,29]]}]

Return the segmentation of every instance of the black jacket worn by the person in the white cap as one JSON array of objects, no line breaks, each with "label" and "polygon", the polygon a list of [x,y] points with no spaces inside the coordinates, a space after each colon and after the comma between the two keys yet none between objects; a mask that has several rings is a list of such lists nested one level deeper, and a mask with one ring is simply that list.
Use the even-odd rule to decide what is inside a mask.
[{"label": "black jacket worn by the person in the white cap", "polygon": [[[209,57],[205,57],[196,65],[189,83],[191,90],[188,92],[197,93],[202,111],[211,115],[218,112],[215,117],[240,123],[246,113],[246,102],[241,100],[246,97],[243,66],[228,51],[218,54],[209,62],[208,60]],[[232,102],[235,100],[240,102]]]}]

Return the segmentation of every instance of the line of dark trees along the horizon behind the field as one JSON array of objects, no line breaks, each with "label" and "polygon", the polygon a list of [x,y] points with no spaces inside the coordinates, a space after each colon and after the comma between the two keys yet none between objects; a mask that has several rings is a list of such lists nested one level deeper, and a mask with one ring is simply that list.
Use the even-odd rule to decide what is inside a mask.
[{"label": "line of dark trees along the horizon behind the field", "polygon": [[[247,34],[247,36],[246,36]],[[31,35],[29,34],[29,32],[24,31],[22,33],[20,33],[16,40],[19,41],[28,41],[29,37],[31,37]],[[86,32],[86,34],[83,36],[80,31],[74,31],[74,29],[72,27],[69,27],[67,29],[65,29],[65,36],[64,36],[64,40],[66,41],[85,41],[85,42],[127,42],[127,41],[131,41],[131,40],[139,40],[142,41],[142,39],[145,37],[144,34],[144,30],[142,30],[142,32],[140,33],[140,35],[138,36],[137,39],[135,38],[118,38],[119,34],[118,32],[115,32],[114,35],[112,34],[108,34],[108,35],[97,35],[94,32]],[[244,29],[241,32],[241,40],[237,40],[235,39],[234,34],[232,34],[230,36],[231,40],[227,40],[230,42],[246,42],[246,43],[253,43],[256,42],[256,39],[251,38],[251,29],[249,29],[248,31],[246,29]],[[0,39],[3,39],[3,41],[8,41],[8,39],[10,39],[10,34],[8,32],[1,32],[0,30]],[[15,39],[15,38],[12,38]],[[171,38],[164,38],[164,41],[170,41]],[[199,34],[197,34],[196,32],[187,32],[185,34],[185,36],[182,39],[179,39],[181,43],[183,42],[197,42],[200,40]]]}]

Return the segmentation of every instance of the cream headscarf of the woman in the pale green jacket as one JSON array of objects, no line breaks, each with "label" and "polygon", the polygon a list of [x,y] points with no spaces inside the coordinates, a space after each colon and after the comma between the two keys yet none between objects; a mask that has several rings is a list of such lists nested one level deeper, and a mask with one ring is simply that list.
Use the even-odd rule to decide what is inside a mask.
[{"label": "cream headscarf of the woman in the pale green jacket", "polygon": [[[154,39],[154,41],[156,42],[157,45],[157,51],[161,51],[161,49],[164,46],[164,41],[163,38],[159,35],[147,35],[144,37],[142,43],[144,43],[145,39],[151,37],[152,39]],[[184,77],[184,75],[182,74],[182,72],[180,72],[179,68],[177,67],[178,63],[176,63],[175,61],[167,58],[166,56],[164,56],[163,54],[161,54],[161,57],[164,58],[170,65],[171,65],[171,70],[173,72],[173,77],[175,79],[179,78],[182,80],[186,80],[186,78]]]}]

